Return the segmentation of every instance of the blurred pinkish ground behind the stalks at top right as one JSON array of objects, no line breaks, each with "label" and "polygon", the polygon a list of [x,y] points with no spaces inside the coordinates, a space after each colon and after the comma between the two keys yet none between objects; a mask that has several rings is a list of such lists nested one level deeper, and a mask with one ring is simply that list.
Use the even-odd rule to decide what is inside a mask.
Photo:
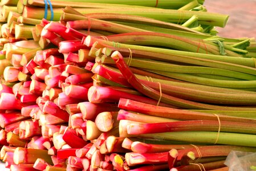
[{"label": "blurred pinkish ground behind the stalks at top right", "polygon": [[205,0],[209,12],[229,14],[225,28],[217,28],[220,36],[256,37],[256,0]]}]

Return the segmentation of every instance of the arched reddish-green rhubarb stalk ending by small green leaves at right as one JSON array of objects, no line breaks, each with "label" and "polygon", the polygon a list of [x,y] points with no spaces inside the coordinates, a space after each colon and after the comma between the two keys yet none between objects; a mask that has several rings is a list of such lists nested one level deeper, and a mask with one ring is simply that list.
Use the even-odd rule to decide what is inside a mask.
[{"label": "arched reddish-green rhubarb stalk ending by small green leaves at right", "polygon": [[[110,23],[109,23],[110,24]],[[206,54],[219,55],[219,48],[215,44],[209,44],[204,40],[190,40],[170,34],[162,34],[157,32],[130,32],[127,34],[118,34],[108,36],[111,42],[119,42],[124,44],[143,45],[143,46],[161,46],[173,48],[181,51],[199,52]],[[226,50],[228,56],[241,56],[235,52]]]}]

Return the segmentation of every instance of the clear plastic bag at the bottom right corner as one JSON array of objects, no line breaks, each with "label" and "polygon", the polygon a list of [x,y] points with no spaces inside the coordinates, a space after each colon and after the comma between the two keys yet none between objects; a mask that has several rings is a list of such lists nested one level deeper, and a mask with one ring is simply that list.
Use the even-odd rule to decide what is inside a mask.
[{"label": "clear plastic bag at the bottom right corner", "polygon": [[229,171],[256,171],[256,153],[231,151],[225,165]]}]

